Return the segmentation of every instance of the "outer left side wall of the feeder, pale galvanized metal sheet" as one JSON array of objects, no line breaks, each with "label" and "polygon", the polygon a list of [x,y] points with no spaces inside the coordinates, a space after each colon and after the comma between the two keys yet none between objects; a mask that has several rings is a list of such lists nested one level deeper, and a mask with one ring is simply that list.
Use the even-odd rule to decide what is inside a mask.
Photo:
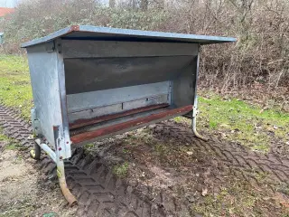
[{"label": "outer left side wall of the feeder, pale galvanized metal sheet", "polygon": [[27,49],[33,100],[42,134],[54,144],[53,126],[62,126],[61,98],[58,77],[58,57],[53,43]]}]

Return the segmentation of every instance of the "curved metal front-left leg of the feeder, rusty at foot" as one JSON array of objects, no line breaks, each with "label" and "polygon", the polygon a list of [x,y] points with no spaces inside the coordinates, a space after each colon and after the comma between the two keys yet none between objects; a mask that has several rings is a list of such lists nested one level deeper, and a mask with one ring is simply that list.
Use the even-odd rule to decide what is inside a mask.
[{"label": "curved metal front-left leg of the feeder, rusty at foot", "polygon": [[64,172],[64,161],[62,156],[60,156],[60,150],[63,148],[61,146],[61,137],[59,133],[59,126],[53,127],[54,140],[55,140],[55,152],[56,152],[56,165],[57,165],[57,176],[61,185],[61,192],[63,193],[65,199],[73,206],[77,203],[76,198],[70,193],[70,189],[67,187],[65,172]]}]

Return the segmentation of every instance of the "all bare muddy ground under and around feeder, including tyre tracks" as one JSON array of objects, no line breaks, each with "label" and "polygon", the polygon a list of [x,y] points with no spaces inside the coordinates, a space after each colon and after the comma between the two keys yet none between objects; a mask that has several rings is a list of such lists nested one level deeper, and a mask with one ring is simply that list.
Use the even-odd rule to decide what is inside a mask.
[{"label": "all bare muddy ground under and around feeder, including tyre tracks", "polygon": [[[29,135],[22,121],[2,114],[6,133]],[[25,137],[18,140],[31,147]],[[289,216],[286,155],[216,137],[203,142],[182,123],[166,121],[76,148],[66,164],[79,201],[73,208],[51,160],[42,155],[35,162],[15,147],[5,139],[0,144],[1,217]]]}]

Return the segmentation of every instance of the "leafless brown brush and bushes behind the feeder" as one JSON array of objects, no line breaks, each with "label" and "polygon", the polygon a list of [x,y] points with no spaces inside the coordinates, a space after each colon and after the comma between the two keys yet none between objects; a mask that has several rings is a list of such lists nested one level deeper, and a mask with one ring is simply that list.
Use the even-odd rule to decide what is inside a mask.
[{"label": "leafless brown brush and bushes behind the feeder", "polygon": [[[108,0],[107,0],[108,1]],[[233,36],[235,44],[205,46],[200,84],[224,93],[289,91],[287,0],[27,0],[0,23],[2,52],[70,24]],[[203,73],[203,72],[206,73]],[[280,98],[280,95],[275,95]],[[281,102],[288,99],[281,97]]]}]

